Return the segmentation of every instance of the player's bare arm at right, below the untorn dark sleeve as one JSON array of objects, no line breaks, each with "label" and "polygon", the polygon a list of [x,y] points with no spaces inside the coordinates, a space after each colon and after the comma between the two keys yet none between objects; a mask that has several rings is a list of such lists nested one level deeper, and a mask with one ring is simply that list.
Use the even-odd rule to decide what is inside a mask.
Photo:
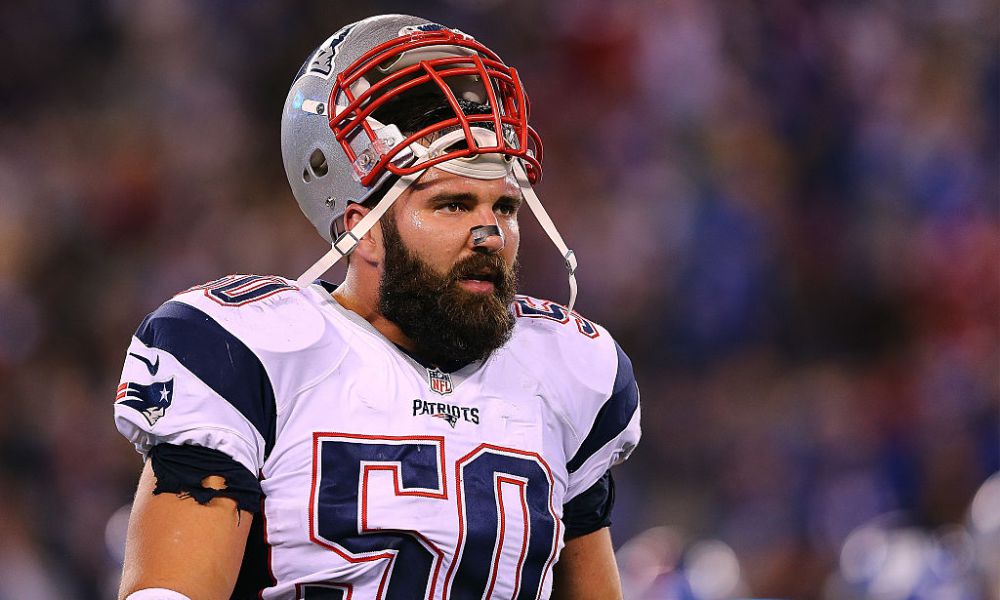
[{"label": "player's bare arm at right, below the untorn dark sleeve", "polygon": [[567,541],[553,569],[552,599],[621,600],[621,597],[610,529],[603,527]]}]

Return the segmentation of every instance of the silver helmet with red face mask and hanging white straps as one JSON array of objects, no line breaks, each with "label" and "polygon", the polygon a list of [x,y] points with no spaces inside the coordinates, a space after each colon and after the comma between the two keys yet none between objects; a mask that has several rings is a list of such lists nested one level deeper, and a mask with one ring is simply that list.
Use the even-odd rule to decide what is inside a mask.
[{"label": "silver helmet with red face mask and hanging white straps", "polygon": [[[418,94],[439,94],[452,116],[415,132],[375,116],[386,104]],[[459,98],[488,111],[465,114]],[[572,308],[576,259],[531,188],[541,177],[542,144],[528,125],[528,98],[517,71],[471,36],[406,15],[346,25],[296,75],[282,112],[281,149],[299,207],[332,244],[300,283],[349,254],[411,183],[437,167],[479,179],[517,178],[566,260]],[[348,204],[377,192],[383,194],[378,204],[340,233]]]}]

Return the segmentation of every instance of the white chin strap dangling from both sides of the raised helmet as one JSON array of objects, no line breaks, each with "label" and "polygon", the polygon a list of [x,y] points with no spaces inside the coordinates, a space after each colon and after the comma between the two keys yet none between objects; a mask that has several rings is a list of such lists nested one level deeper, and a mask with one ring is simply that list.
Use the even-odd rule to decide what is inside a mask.
[{"label": "white chin strap dangling from both sides of the raised helmet", "polygon": [[[482,146],[492,146],[495,144],[496,138],[492,131],[488,129],[482,129],[478,127],[472,128],[473,136],[475,137],[477,143]],[[444,151],[446,148],[454,144],[459,140],[464,140],[465,134],[463,131],[458,130],[451,132],[441,138],[437,139],[429,147],[422,146],[418,143],[413,143],[410,149],[419,157],[419,160],[430,160],[438,152]],[[563,241],[562,236],[559,235],[559,230],[556,229],[555,224],[549,217],[549,214],[545,212],[545,208],[542,206],[541,201],[535,194],[535,191],[531,188],[531,182],[528,181],[528,175],[524,170],[524,166],[521,164],[520,160],[507,160],[502,155],[497,153],[490,154],[480,154],[473,156],[471,158],[455,158],[449,161],[435,165],[436,168],[442,171],[447,171],[455,175],[461,175],[463,177],[472,177],[475,179],[499,179],[501,177],[506,177],[511,170],[514,172],[514,177],[517,179],[518,185],[521,187],[521,194],[524,196],[525,202],[528,207],[531,208],[532,214],[538,219],[538,223],[548,234],[549,239],[555,244],[556,248],[559,249],[559,253],[562,254],[563,259],[566,261],[566,269],[569,271],[569,304],[567,307],[569,310],[573,310],[573,306],[576,304],[576,255],[573,253],[569,247],[566,246],[566,242]],[[320,275],[326,273],[330,268],[337,264],[342,257],[347,256],[354,251],[354,248],[358,245],[358,242],[371,230],[372,227],[378,223],[378,220],[389,210],[392,204],[406,191],[406,188],[410,184],[416,182],[420,179],[420,176],[426,172],[426,169],[417,171],[412,175],[403,175],[399,178],[389,188],[382,200],[375,205],[371,211],[368,212],[357,224],[354,225],[349,231],[344,232],[337,238],[330,248],[330,251],[323,255],[318,261],[316,261],[313,266],[306,269],[306,272],[299,276],[297,283],[300,286],[309,286],[313,281],[318,279]]]}]

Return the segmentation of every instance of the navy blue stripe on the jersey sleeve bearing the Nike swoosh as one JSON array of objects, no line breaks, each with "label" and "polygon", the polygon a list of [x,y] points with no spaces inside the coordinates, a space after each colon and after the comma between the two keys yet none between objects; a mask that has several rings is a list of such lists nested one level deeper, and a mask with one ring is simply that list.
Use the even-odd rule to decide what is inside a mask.
[{"label": "navy blue stripe on the jersey sleeve bearing the Nike swoosh", "polygon": [[264,456],[274,447],[274,389],[264,365],[246,344],[202,311],[167,302],[135,332],[143,344],[172,354],[187,370],[226,399],[264,438]]}]

